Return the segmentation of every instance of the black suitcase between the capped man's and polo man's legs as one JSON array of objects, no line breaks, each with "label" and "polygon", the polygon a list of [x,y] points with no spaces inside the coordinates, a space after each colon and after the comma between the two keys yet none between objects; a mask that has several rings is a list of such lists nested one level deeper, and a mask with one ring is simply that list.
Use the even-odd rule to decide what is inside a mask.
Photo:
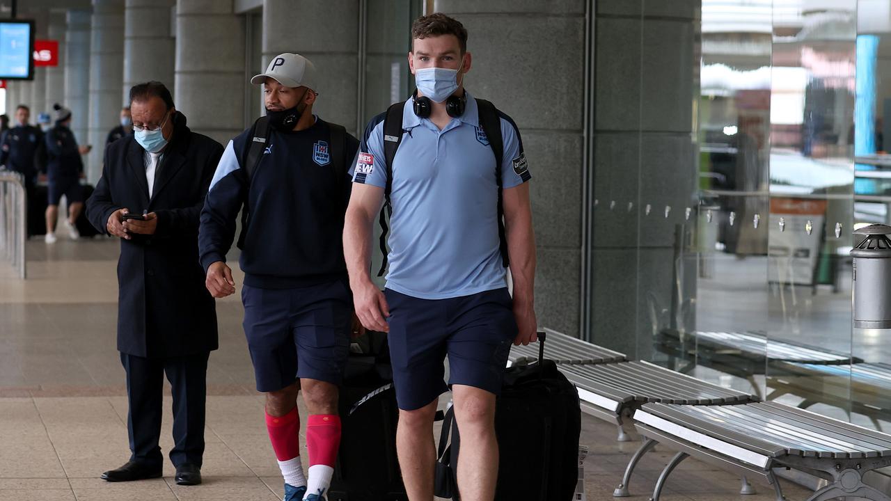
[{"label": "black suitcase between the capped man's and polo man's legs", "polygon": [[408,501],[396,457],[399,408],[386,334],[366,333],[340,386],[340,448],[329,501]]}]

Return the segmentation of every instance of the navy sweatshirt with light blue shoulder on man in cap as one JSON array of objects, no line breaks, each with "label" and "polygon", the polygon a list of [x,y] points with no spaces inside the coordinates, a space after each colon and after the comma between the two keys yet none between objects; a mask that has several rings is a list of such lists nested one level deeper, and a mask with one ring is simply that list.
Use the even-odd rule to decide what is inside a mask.
[{"label": "navy sweatshirt with light blue shoulder on man in cap", "polygon": [[[264,289],[345,280],[343,219],[350,178],[347,170],[359,142],[347,135],[347,165],[333,165],[331,128],[322,119],[298,132],[270,128],[266,152],[248,183],[241,162],[250,129],[226,145],[201,211],[201,266],[225,261],[235,222],[247,199],[248,231],[241,250],[244,283]],[[249,189],[248,189],[249,187]]]}]

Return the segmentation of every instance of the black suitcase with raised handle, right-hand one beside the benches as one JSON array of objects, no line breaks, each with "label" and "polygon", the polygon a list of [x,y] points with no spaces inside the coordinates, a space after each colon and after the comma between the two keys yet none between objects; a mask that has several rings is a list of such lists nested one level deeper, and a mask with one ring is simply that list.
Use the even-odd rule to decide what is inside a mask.
[{"label": "black suitcase with raised handle, right-hand one beside the benches", "polygon": [[[570,501],[576,491],[581,407],[576,387],[552,360],[544,360],[544,338],[538,333],[538,362],[512,365],[504,374],[495,407],[500,457],[496,501]],[[442,430],[437,496],[458,501],[455,471],[461,439],[452,408]]]}]

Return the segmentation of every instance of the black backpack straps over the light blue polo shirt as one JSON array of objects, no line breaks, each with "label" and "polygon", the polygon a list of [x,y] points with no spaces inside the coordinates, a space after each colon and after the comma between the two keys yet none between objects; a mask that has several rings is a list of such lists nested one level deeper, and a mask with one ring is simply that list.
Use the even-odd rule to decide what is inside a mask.
[{"label": "black backpack straps over the light blue polo shirt", "polygon": [[[507,238],[504,236],[504,208],[502,205],[502,163],[504,158],[504,140],[501,134],[501,116],[495,104],[485,99],[477,99],[479,114],[479,126],[486,133],[489,146],[495,154],[495,182],[498,184],[498,240],[501,251],[503,267],[508,267],[510,260],[507,255]],[[383,276],[387,270],[387,218],[393,215],[393,206],[390,204],[390,191],[393,188],[393,159],[396,158],[396,150],[402,143],[402,111],[405,101],[391,104],[387,109],[384,119],[384,168],[387,169],[387,185],[384,187],[384,206],[380,209],[380,253],[383,261],[380,264],[378,276]]]}]

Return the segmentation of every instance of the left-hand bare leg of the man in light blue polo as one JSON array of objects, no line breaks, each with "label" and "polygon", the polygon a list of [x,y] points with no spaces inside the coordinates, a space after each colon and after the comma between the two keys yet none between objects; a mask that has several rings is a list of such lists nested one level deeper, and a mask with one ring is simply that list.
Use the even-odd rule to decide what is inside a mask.
[{"label": "left-hand bare leg of the man in light blue polo", "polygon": [[[437,398],[438,400],[438,398]],[[433,417],[437,400],[413,411],[399,410],[396,452],[411,501],[432,501],[437,449],[433,443]]]}]

